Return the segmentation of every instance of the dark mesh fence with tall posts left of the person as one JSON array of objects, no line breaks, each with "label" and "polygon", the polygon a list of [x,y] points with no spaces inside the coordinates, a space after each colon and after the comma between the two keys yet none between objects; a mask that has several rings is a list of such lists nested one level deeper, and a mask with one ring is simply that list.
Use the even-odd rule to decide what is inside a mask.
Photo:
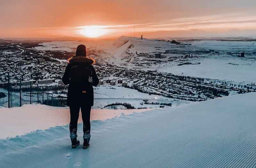
[{"label": "dark mesh fence with tall posts left of the person", "polygon": [[19,107],[23,104],[40,103],[56,107],[65,107],[67,99],[65,96],[54,94],[56,90],[66,92],[65,86],[47,86],[45,84],[30,83],[21,85],[21,82],[0,83],[0,106]]}]

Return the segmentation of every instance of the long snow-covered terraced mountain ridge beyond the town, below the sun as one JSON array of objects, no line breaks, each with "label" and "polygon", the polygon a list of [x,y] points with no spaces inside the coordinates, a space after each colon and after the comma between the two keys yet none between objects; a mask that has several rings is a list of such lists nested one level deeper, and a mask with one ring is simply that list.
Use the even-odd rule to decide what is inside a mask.
[{"label": "long snow-covered terraced mountain ridge beyond the town, below the sun", "polygon": [[[121,36],[115,41],[44,42],[37,50],[74,51],[83,43],[88,57],[101,65],[111,64],[127,69],[167,72],[179,75],[256,82],[256,42],[252,39],[146,39]],[[190,45],[189,45],[190,44]],[[245,52],[245,57],[237,57]],[[161,58],[155,54],[161,53]],[[180,66],[180,64],[184,64]]]}]

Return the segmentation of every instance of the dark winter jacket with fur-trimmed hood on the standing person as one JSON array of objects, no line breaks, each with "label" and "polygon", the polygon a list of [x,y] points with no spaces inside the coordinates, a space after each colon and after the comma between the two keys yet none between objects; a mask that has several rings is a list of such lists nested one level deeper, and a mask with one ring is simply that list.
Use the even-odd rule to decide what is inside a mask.
[{"label": "dark winter jacket with fur-trimmed hood on the standing person", "polygon": [[[69,60],[69,64],[62,77],[65,85],[68,85],[68,106],[93,106],[93,88],[97,86],[99,79],[92,66],[94,60],[82,56],[76,56]],[[88,78],[92,77],[92,83]]]}]

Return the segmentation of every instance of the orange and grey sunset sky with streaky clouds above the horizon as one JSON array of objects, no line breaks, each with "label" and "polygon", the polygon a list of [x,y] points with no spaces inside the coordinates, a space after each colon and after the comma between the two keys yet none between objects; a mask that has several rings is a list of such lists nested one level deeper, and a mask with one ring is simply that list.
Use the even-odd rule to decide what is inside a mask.
[{"label": "orange and grey sunset sky with streaky clouds above the horizon", "polygon": [[255,0],[0,0],[0,37],[256,36]]}]

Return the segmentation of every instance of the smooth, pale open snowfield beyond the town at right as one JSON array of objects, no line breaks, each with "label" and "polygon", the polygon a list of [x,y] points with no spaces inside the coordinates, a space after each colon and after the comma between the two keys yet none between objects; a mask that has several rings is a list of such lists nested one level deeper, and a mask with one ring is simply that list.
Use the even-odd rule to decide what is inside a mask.
[{"label": "smooth, pale open snowfield beyond the town at right", "polygon": [[256,82],[255,60],[256,56],[253,59],[227,55],[208,56],[190,61],[190,63],[200,63],[196,65],[171,66],[168,63],[163,64],[159,71],[210,79]]}]

